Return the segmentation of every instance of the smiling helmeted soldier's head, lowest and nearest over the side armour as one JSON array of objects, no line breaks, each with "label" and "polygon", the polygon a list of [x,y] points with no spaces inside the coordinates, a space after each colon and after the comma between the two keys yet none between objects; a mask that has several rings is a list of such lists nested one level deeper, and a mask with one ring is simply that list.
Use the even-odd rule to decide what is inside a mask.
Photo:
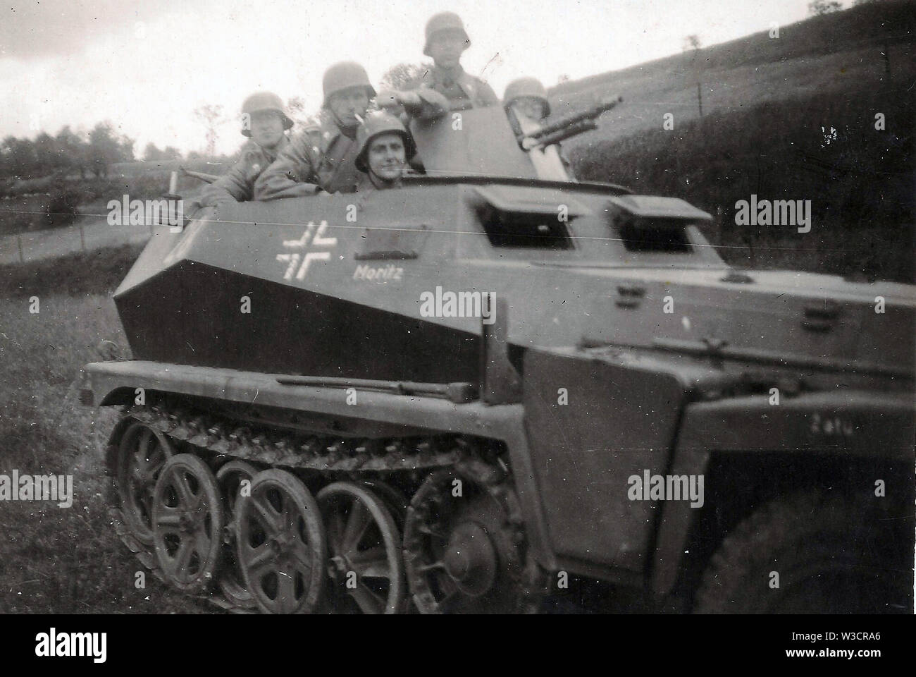
[{"label": "smiling helmeted soldier's head, lowest and nearest over the side armour", "polygon": [[404,124],[385,112],[370,113],[356,132],[356,169],[365,173],[358,192],[399,188],[417,149]]}]

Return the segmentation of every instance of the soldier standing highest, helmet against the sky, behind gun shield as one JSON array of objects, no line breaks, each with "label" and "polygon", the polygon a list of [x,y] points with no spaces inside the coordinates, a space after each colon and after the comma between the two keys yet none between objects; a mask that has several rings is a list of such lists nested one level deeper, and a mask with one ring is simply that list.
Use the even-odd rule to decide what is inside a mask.
[{"label": "soldier standing highest, helmet against the sky, behind gun shield", "polygon": [[462,52],[470,46],[471,39],[457,14],[442,12],[426,23],[423,53],[432,57],[435,66],[424,78],[422,86],[444,95],[452,110],[499,104],[490,85],[464,72],[461,66]]}]

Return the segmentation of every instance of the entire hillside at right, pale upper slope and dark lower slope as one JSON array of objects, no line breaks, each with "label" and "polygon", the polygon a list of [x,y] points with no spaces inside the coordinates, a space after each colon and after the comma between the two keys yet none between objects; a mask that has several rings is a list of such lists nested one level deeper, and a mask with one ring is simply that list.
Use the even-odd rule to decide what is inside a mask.
[{"label": "entire hillside at right, pale upper slope and dark lower slope", "polygon": [[[570,100],[626,99],[569,144],[573,165],[584,179],[702,207],[715,216],[708,237],[735,264],[913,282],[914,23],[916,2],[888,2],[704,50],[704,82],[715,84],[703,88],[702,118],[681,57],[570,83]],[[885,28],[911,31],[892,45],[889,72],[880,48],[863,46]],[[736,201],[751,194],[811,200],[812,231],[737,227]]]}]

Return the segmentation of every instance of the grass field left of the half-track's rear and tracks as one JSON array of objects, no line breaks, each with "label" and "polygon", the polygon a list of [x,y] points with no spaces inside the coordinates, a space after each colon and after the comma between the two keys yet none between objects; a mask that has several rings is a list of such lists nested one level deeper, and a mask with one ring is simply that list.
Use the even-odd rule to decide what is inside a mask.
[{"label": "grass field left of the half-track's rear and tracks", "polygon": [[[71,474],[74,493],[69,508],[0,502],[0,613],[202,611],[152,576],[137,589],[142,567],[107,516],[97,440],[107,435],[112,412],[96,421],[95,411],[78,405],[76,384],[82,365],[98,359],[101,339],[127,350],[111,290],[131,253],[104,254],[108,274],[73,266],[84,278],[71,272],[74,294],[53,290],[40,266],[24,266],[16,272],[21,286],[5,286],[0,298],[0,474]],[[0,278],[9,281],[10,271],[0,269]],[[28,312],[33,295],[38,314]]]}]

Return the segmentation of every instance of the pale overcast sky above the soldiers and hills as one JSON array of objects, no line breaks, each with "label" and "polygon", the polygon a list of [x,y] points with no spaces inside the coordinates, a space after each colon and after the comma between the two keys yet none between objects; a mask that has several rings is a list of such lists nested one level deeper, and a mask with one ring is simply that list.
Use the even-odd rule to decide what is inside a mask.
[{"label": "pale overcast sky above the soldiers and hills", "polygon": [[[322,101],[322,72],[359,61],[377,83],[417,63],[436,12],[461,15],[462,63],[502,94],[522,75],[547,86],[784,26],[809,0],[7,0],[0,8],[0,138],[88,130],[110,120],[136,139],[187,152],[206,146],[193,115],[223,105],[217,150],[244,138],[247,94]],[[844,3],[848,5],[849,3]]]}]

